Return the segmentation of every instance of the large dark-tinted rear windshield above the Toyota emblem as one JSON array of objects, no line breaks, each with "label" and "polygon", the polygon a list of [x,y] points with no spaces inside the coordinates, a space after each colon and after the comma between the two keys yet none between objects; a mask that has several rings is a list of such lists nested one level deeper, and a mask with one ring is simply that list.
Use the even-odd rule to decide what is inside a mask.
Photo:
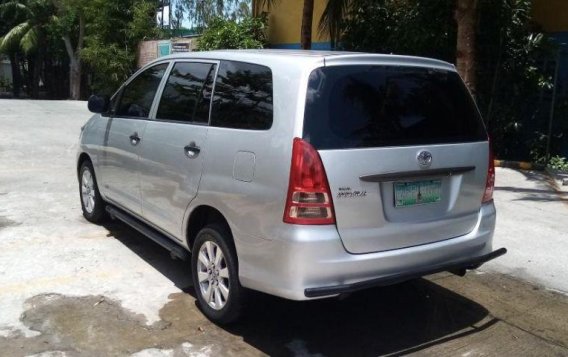
[{"label": "large dark-tinted rear windshield above the Toyota emblem", "polygon": [[304,139],[317,149],[487,140],[455,72],[404,66],[322,67],[310,74]]}]

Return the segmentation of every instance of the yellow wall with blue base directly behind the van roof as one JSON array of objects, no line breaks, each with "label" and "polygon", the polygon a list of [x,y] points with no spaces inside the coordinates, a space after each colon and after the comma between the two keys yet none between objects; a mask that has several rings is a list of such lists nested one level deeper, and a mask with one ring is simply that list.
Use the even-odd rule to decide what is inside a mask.
[{"label": "yellow wall with blue base directly behind the van roof", "polygon": [[[300,48],[300,28],[302,27],[303,0],[275,1],[268,12],[268,37],[272,48]],[[314,0],[314,20],[312,23],[312,49],[328,50],[331,48],[329,36],[319,33],[319,21],[327,0]]]}]

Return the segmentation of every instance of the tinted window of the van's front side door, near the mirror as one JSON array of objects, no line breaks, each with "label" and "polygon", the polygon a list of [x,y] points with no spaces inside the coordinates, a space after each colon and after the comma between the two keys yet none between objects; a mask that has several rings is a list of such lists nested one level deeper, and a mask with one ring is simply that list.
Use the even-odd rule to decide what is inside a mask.
[{"label": "tinted window of the van's front side door, near the mirror", "polygon": [[147,118],[166,68],[167,63],[150,67],[128,83],[122,90],[116,116]]}]

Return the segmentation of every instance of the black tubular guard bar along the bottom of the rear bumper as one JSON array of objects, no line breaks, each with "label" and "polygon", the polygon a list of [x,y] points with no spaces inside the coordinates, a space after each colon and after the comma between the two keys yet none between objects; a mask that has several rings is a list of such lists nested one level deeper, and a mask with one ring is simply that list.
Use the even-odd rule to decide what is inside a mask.
[{"label": "black tubular guard bar along the bottom of the rear bumper", "polygon": [[427,267],[423,269],[417,269],[414,271],[407,271],[399,274],[387,275],[380,277],[378,279],[365,280],[353,284],[325,286],[320,288],[308,288],[304,290],[304,295],[306,295],[306,297],[308,298],[316,298],[316,297],[329,296],[329,295],[345,294],[377,286],[394,285],[407,280],[416,279],[425,275],[435,274],[443,271],[475,269],[478,268],[481,264],[487,263],[490,260],[498,258],[505,253],[507,253],[507,249],[500,248],[494,252],[482,255],[480,257],[472,259],[463,259],[461,261],[453,262],[450,264],[440,264],[435,267]]}]

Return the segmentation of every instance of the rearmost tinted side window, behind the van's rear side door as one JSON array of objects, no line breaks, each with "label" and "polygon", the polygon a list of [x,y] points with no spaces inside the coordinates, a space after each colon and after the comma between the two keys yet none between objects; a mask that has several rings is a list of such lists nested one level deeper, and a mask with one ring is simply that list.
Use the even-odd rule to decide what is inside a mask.
[{"label": "rearmost tinted side window, behind the van's rear side door", "polygon": [[222,61],[215,83],[211,125],[236,129],[270,129],[272,96],[270,68]]}]

